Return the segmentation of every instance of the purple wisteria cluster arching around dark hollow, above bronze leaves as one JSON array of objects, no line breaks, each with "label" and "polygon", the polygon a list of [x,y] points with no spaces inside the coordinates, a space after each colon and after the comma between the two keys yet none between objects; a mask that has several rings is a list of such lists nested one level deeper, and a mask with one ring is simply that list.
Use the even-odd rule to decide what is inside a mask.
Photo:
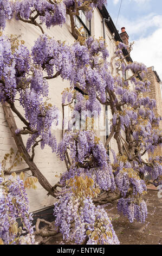
[{"label": "purple wisteria cluster arching around dark hollow, above bronze leaves", "polygon": [[106,149],[92,131],[65,133],[57,147],[57,156],[64,160],[67,150],[72,158],[72,166],[68,172],[62,174],[62,184],[76,174],[83,177],[87,175],[102,190],[115,190],[114,176]]}]

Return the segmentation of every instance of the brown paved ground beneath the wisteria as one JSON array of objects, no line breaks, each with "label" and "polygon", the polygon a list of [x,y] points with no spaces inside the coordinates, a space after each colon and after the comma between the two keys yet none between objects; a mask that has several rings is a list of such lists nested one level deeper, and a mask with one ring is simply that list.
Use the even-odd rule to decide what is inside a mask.
[{"label": "brown paved ground beneath the wisteria", "polygon": [[[158,198],[157,190],[148,189],[145,201],[148,209],[145,223],[130,223],[126,217],[119,216],[116,204],[106,206],[121,245],[162,245],[162,198]],[[36,236],[36,240],[47,245],[67,244],[63,242],[61,235],[44,239]]]}]

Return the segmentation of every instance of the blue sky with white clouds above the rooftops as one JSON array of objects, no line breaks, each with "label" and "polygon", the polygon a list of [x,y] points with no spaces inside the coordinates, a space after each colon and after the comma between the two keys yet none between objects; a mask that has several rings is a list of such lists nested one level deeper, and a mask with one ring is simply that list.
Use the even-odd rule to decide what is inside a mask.
[{"label": "blue sky with white clouds above the rooftops", "polygon": [[126,28],[129,42],[135,42],[131,57],[147,67],[154,66],[162,81],[162,0],[107,0],[107,10],[121,32]]}]

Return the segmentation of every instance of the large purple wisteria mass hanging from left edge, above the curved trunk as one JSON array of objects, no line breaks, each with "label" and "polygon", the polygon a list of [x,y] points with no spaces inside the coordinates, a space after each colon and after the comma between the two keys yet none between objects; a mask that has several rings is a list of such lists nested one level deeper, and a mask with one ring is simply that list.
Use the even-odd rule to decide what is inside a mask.
[{"label": "large purple wisteria mass hanging from left edge, above the curved trunk", "polygon": [[[10,39],[0,36],[0,101],[13,104],[18,92],[28,122],[27,128],[31,130],[27,150],[30,151],[39,138],[42,149],[44,145],[49,145],[54,152],[57,143],[51,126],[53,122],[57,124],[58,112],[55,106],[44,100],[48,96],[48,82],[43,77],[43,69],[41,66],[33,67],[27,47],[18,43],[13,51],[11,43]],[[18,131],[21,133],[21,129]]]}]

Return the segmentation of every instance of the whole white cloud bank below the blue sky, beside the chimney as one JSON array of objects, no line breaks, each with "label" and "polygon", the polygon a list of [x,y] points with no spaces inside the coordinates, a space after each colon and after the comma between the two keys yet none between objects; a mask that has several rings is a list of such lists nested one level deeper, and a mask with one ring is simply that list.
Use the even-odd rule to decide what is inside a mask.
[{"label": "whole white cloud bank below the blue sky, beside the chimney", "polygon": [[162,81],[162,15],[151,13],[133,21],[120,17],[118,24],[126,27],[129,42],[138,38],[131,54],[132,59],[147,67],[154,66]]}]

